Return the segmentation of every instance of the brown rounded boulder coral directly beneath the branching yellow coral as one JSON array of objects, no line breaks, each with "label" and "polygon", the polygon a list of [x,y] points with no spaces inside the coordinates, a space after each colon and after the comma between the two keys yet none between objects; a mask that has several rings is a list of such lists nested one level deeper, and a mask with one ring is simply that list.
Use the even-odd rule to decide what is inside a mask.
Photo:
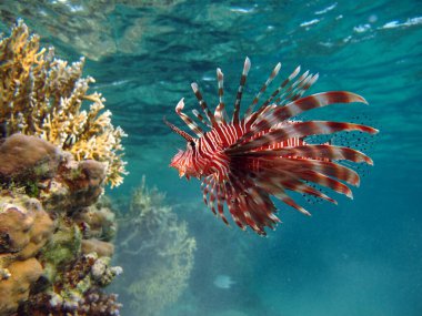
[{"label": "brown rounded boulder coral directly beneath the branching yellow coral", "polygon": [[[78,210],[103,192],[105,163],[73,156],[34,136],[13,134],[0,144],[0,181],[38,197],[46,210]],[[99,215],[100,216],[100,215]]]}]

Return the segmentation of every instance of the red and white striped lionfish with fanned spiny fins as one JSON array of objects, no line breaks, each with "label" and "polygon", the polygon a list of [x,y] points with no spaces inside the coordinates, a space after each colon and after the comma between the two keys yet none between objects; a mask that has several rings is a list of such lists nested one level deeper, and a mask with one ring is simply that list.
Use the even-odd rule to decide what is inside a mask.
[{"label": "red and white striped lionfish with fanned spiny fins", "polygon": [[[265,227],[274,230],[280,222],[271,195],[310,215],[289,192],[336,204],[316,185],[352,198],[348,185],[359,186],[360,176],[339,162],[373,164],[368,155],[358,150],[330,142],[308,143],[308,136],[344,131],[375,134],[378,130],[349,122],[294,120],[298,114],[333,103],[368,104],[362,96],[346,91],[322,92],[302,98],[315,83],[318,74],[307,71],[299,75],[300,67],[254,110],[260,96],[278,75],[281,63],[275,65],[241,115],[240,103],[250,68],[251,62],[247,58],[231,118],[227,114],[223,101],[223,73],[217,69],[220,102],[214,112],[207,105],[197,83],[191,86],[203,114],[193,110],[197,121],[185,114],[183,99],[175,106],[175,113],[195,136],[168,122],[165,118],[164,122],[188,142],[187,150],[179,150],[170,166],[179,170],[180,177],[184,175],[188,180],[191,176],[202,180],[204,203],[225,224],[229,222],[224,215],[224,205],[239,227],[245,230],[250,226],[258,234],[265,235]],[[209,130],[204,131],[204,126]]]}]

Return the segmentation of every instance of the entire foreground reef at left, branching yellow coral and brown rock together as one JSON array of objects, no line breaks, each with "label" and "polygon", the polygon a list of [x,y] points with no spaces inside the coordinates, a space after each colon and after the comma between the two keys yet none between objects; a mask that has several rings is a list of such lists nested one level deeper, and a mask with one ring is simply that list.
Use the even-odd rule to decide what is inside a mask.
[{"label": "entire foreground reef at left, branching yellow coral and brown rock together", "polygon": [[21,21],[0,41],[0,316],[120,313],[102,289],[122,272],[114,215],[96,203],[122,181],[124,133],[82,63],[40,50]]}]

